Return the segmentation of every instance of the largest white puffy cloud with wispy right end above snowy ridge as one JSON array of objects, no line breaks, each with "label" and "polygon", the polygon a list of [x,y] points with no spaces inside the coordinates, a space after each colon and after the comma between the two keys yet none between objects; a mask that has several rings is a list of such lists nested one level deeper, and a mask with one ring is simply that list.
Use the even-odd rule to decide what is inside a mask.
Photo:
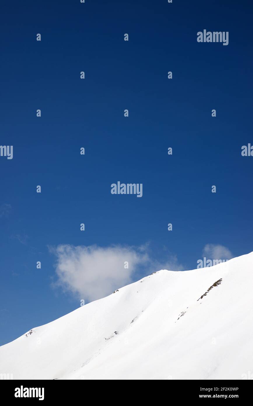
[{"label": "largest white puffy cloud with wispy right end above snowy ridge", "polygon": [[[176,256],[164,263],[153,261],[145,246],[59,245],[49,247],[49,251],[56,255],[57,281],[53,285],[86,302],[105,297],[132,283],[140,266],[145,266],[147,274],[160,269],[183,270]],[[125,268],[126,261],[128,268]]]}]

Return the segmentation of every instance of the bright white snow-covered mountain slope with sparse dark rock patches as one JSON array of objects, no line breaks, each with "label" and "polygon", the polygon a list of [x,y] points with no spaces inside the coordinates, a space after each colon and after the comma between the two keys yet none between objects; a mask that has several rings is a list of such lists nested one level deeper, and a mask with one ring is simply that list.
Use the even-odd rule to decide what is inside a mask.
[{"label": "bright white snow-covered mountain slope with sparse dark rock patches", "polygon": [[0,347],[13,379],[243,379],[253,373],[253,253],[161,270]]}]

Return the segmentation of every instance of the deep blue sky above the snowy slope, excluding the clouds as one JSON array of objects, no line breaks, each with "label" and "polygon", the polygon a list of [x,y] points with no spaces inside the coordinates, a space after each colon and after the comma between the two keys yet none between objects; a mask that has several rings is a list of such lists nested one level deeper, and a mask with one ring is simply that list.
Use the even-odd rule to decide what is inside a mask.
[{"label": "deep blue sky above the snowy slope, excluding the clouds", "polygon": [[[241,156],[253,144],[252,2],[1,9],[0,145],[13,145],[12,160],[0,157],[0,207],[11,206],[0,214],[1,345],[79,306],[51,288],[47,246],[149,242],[154,259],[165,247],[185,269],[208,243],[253,251],[253,157]],[[229,45],[198,43],[204,29],[229,31]],[[142,183],[143,197],[111,195],[118,180]]]}]

